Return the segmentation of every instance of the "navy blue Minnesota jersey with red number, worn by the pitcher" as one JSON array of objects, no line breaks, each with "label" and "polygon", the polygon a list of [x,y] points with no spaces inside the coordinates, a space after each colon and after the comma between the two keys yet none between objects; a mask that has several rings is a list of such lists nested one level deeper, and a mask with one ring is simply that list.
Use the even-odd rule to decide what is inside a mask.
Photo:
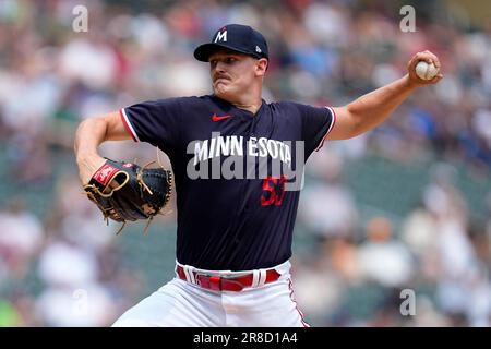
[{"label": "navy blue Minnesota jersey with red number, worn by the pitcher", "polygon": [[250,270],[291,256],[300,191],[285,190],[289,170],[322,146],[332,108],[263,100],[253,115],[207,95],[140,103],[121,117],[135,141],[169,156],[180,263]]}]

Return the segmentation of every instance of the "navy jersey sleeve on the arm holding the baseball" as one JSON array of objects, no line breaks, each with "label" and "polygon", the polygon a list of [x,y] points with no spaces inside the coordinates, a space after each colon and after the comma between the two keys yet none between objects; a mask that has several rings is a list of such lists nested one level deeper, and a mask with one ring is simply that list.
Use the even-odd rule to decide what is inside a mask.
[{"label": "navy jersey sleeve on the arm holding the baseball", "polygon": [[296,104],[302,124],[302,141],[306,142],[306,158],[324,144],[325,136],[333,130],[336,115],[332,107],[313,107]]}]

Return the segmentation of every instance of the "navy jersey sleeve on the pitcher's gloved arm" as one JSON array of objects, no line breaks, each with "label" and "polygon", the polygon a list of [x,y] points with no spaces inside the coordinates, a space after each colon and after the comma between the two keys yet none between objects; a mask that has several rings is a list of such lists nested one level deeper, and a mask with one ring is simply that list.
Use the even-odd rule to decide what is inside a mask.
[{"label": "navy jersey sleeve on the pitcher's gloved arm", "polygon": [[179,98],[139,103],[120,109],[121,119],[135,142],[147,142],[164,152],[179,143],[181,103]]}]

